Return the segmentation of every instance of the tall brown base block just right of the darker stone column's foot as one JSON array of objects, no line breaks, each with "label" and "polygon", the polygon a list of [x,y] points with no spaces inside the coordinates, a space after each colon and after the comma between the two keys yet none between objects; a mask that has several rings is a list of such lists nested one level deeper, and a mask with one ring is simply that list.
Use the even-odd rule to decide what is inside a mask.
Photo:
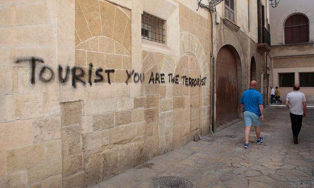
[{"label": "tall brown base block just right of the darker stone column's foot", "polygon": [[85,162],[86,186],[97,184],[103,179],[104,158],[102,153],[96,153]]}]

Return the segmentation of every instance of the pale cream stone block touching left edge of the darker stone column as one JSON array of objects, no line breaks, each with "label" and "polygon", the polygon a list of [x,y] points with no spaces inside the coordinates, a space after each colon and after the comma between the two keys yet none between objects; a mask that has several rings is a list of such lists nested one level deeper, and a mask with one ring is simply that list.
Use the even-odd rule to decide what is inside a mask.
[{"label": "pale cream stone block touching left edge of the darker stone column", "polygon": [[61,138],[60,117],[37,118],[32,122],[34,143]]}]

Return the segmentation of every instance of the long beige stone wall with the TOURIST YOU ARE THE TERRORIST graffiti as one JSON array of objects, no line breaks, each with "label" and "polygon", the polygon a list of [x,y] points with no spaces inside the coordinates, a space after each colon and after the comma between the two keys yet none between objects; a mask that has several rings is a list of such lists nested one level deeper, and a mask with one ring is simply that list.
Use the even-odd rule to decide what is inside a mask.
[{"label": "long beige stone wall with the TOURIST YOU ARE THE TERRORIST graffiti", "polygon": [[[208,12],[152,3],[0,2],[0,188],[88,187],[209,133]],[[141,39],[143,11],[166,44]]]}]

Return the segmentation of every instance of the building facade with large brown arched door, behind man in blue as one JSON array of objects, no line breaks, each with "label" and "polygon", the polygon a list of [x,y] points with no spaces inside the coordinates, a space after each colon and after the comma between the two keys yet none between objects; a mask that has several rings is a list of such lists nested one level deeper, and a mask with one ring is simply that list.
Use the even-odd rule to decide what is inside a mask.
[{"label": "building facade with large brown arched door, behind man in blue", "polygon": [[212,122],[218,127],[241,116],[238,101],[251,80],[267,101],[270,36],[267,0],[225,0],[216,8],[211,91]]}]

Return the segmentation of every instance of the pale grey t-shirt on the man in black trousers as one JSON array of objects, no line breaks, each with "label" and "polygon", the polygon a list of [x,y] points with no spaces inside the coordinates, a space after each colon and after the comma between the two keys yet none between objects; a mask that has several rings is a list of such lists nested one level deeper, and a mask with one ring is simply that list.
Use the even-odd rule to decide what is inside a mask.
[{"label": "pale grey t-shirt on the man in black trousers", "polygon": [[289,111],[295,115],[303,115],[303,102],[305,102],[305,94],[299,91],[293,91],[287,94],[286,100],[289,101]]}]

